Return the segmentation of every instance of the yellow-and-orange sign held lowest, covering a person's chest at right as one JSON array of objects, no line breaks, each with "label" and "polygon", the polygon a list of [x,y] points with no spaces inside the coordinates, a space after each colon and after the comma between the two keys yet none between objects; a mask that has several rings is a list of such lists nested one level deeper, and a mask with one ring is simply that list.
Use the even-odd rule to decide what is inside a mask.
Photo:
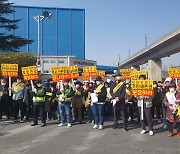
[{"label": "yellow-and-orange sign held lowest, covering a person's chest at right", "polygon": [[153,96],[152,80],[131,80],[131,89],[133,96]]}]

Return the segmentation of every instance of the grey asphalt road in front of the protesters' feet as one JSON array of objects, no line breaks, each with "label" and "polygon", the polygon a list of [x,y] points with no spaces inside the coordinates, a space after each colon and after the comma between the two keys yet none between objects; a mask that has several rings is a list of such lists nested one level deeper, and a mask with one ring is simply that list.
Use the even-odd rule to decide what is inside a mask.
[{"label": "grey asphalt road in front of the protesters' feet", "polygon": [[31,122],[10,124],[0,122],[0,154],[180,154],[180,139],[167,137],[167,131],[156,124],[155,135],[140,134],[138,125],[129,131],[112,129],[112,121],[104,130],[92,124],[58,127],[57,121],[32,127]]}]

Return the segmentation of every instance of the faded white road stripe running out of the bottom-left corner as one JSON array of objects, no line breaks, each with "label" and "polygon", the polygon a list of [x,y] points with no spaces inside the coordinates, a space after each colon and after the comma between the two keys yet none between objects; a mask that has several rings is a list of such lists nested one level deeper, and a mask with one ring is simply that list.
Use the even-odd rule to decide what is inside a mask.
[{"label": "faded white road stripe running out of the bottom-left corner", "polygon": [[50,130],[50,132],[46,132],[36,138],[33,138],[27,142],[24,143],[20,143],[18,145],[16,145],[16,147],[10,148],[6,151],[3,152],[3,154],[19,154],[19,153],[26,153],[29,150],[40,146],[41,144],[52,140],[54,137],[68,131],[69,129],[66,127],[62,127],[62,128],[55,128],[53,130]]}]

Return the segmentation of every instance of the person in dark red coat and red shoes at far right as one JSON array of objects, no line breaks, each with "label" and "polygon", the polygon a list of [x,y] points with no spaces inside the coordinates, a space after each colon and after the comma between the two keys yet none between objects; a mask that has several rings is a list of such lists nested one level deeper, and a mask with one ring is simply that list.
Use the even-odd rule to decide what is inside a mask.
[{"label": "person in dark red coat and red shoes at far right", "polygon": [[166,118],[168,120],[168,136],[173,136],[174,124],[177,129],[177,137],[180,138],[180,84],[171,83],[168,85],[169,92],[166,93],[164,104],[167,107]]}]

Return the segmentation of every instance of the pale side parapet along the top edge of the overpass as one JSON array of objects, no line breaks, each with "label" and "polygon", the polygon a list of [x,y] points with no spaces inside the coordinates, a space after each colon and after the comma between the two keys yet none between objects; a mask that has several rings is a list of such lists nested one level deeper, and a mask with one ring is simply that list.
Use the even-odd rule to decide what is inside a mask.
[{"label": "pale side parapet along the top edge of the overpass", "polygon": [[153,49],[154,47],[157,47],[158,45],[162,44],[163,42],[169,40],[170,38],[172,38],[172,37],[174,37],[174,36],[176,36],[176,35],[178,35],[178,34],[180,34],[180,26],[179,26],[179,27],[176,27],[175,30],[173,30],[173,31],[165,34],[164,36],[162,36],[161,38],[159,38],[159,39],[156,40],[155,42],[151,43],[151,44],[148,45],[146,48],[138,51],[137,53],[135,53],[134,55],[132,55],[130,58],[124,60],[124,61],[120,64],[120,66],[123,65],[124,63],[127,63],[128,61],[133,60],[134,58],[140,56],[141,54],[146,53],[147,51]]}]

